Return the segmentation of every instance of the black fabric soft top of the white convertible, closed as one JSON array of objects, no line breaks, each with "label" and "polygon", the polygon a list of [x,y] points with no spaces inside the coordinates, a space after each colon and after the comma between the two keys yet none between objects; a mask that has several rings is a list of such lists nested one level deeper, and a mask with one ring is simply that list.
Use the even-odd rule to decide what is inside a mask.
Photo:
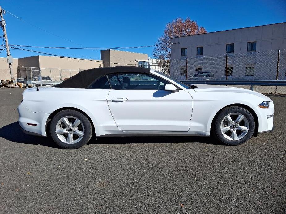
[{"label": "black fabric soft top of the white convertible, closed", "polygon": [[92,68],[79,72],[75,76],[63,81],[60,84],[54,85],[57,88],[87,88],[95,80],[100,77],[113,73],[146,73],[150,74],[150,68],[135,67],[135,66],[115,66],[105,68]]}]

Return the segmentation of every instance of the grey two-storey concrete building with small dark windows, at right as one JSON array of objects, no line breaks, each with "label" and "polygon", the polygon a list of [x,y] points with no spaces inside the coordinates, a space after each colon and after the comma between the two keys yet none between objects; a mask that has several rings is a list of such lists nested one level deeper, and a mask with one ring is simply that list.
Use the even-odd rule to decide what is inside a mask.
[{"label": "grey two-storey concrete building with small dark windows, at right", "polygon": [[286,22],[177,37],[171,43],[170,75],[176,79],[196,71],[210,71],[216,79],[226,74],[228,79],[273,79],[278,49],[279,78],[285,78]]}]

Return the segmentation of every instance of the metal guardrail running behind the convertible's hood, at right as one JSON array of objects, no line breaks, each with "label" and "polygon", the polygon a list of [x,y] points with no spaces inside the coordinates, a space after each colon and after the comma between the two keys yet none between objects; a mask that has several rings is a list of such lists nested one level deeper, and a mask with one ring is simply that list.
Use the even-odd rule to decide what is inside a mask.
[{"label": "metal guardrail running behind the convertible's hood, at right", "polygon": [[286,86],[286,80],[179,80],[185,84]]}]

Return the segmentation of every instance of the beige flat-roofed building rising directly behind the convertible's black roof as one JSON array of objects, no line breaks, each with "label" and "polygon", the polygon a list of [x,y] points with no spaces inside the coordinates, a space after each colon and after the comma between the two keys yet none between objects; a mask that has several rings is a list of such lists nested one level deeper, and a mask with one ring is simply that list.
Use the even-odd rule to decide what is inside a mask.
[{"label": "beige flat-roofed building rising directly behind the convertible's black roof", "polygon": [[102,50],[100,54],[104,67],[140,66],[148,68],[149,64],[148,54],[112,49]]}]

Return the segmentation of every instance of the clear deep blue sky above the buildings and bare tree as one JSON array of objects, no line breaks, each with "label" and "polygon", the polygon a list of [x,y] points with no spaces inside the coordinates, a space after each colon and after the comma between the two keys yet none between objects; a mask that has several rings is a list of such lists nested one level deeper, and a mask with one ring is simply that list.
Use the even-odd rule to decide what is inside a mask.
[{"label": "clear deep blue sky above the buildings and bare tree", "polygon": [[[286,21],[286,1],[17,1],[0,0],[21,19],[84,47],[153,45],[166,23],[190,17],[207,32]],[[10,44],[81,47],[6,13]],[[0,32],[2,35],[2,32]],[[2,38],[0,38],[2,44]],[[0,44],[0,45],[1,45]],[[100,59],[100,50],[36,49],[57,55]],[[152,47],[126,51],[147,53]],[[36,53],[11,49],[15,58]],[[40,54],[41,55],[41,54]],[[1,57],[6,57],[2,51]]]}]

